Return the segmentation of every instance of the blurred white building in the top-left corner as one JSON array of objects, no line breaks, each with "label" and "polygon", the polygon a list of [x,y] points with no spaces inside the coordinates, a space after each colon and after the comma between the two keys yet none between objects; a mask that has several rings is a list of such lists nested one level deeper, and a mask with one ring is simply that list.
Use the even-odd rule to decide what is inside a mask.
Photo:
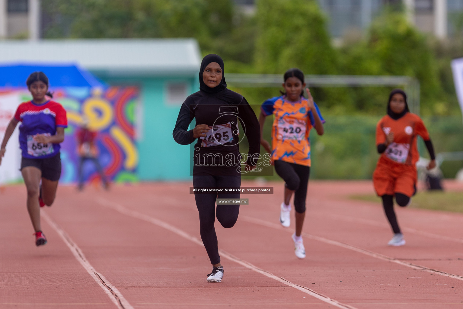
[{"label": "blurred white building in the top-left corner", "polygon": [[40,0],[0,0],[0,39],[40,38]]}]

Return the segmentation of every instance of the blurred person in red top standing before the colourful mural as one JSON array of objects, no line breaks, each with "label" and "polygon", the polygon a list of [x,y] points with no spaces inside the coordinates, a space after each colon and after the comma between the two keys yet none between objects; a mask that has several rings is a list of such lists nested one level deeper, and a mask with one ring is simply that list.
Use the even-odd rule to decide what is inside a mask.
[{"label": "blurred person in red top standing before the colourful mural", "polygon": [[88,120],[84,119],[81,127],[76,133],[77,140],[77,153],[79,154],[79,168],[77,170],[79,178],[79,190],[82,190],[84,187],[84,175],[82,173],[82,168],[85,161],[92,161],[95,164],[95,167],[100,174],[101,181],[103,182],[104,188],[107,190],[109,188],[106,175],[103,172],[103,168],[98,161],[98,148],[95,145],[97,133],[90,130],[88,127]]}]

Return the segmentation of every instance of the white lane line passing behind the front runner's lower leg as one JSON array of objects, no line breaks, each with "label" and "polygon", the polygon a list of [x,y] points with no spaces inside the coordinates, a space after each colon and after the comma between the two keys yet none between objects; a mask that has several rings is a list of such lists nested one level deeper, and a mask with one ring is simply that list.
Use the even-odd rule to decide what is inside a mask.
[{"label": "white lane line passing behind the front runner's lower leg", "polygon": [[[188,239],[189,241],[193,241],[194,243],[200,245],[201,247],[203,247],[203,243],[201,240],[199,240],[198,238],[194,237],[193,235],[190,235],[184,231],[182,231],[181,229],[178,229],[176,228],[175,226],[173,225],[170,225],[169,223],[167,222],[164,222],[164,221],[161,221],[161,220],[158,220],[156,218],[153,218],[151,216],[147,216],[145,214],[142,214],[138,211],[134,211],[134,210],[130,210],[128,208],[125,208],[124,206],[122,206],[121,204],[118,204],[118,203],[114,203],[114,202],[111,202],[111,201],[108,201],[104,198],[97,198],[97,202],[102,205],[102,206],[105,206],[105,207],[108,207],[108,208],[111,208],[113,210],[116,210],[118,212],[120,212],[121,214],[123,215],[126,215],[126,216],[131,216],[131,217],[134,217],[136,219],[140,219],[140,220],[144,220],[146,222],[150,222],[150,223],[153,223],[157,226],[160,226],[164,229],[167,229],[177,235],[180,235],[181,237],[185,238],[185,239]],[[253,264],[249,263],[249,262],[246,262],[244,260],[241,260],[235,256],[233,256],[232,254],[228,253],[228,252],[225,252],[224,250],[222,249],[219,249],[219,252],[220,252],[220,255],[228,260],[231,260],[235,263],[238,263],[239,265],[241,266],[244,266],[246,267],[247,269],[250,269],[254,272],[258,272],[266,277],[269,277],[271,279],[274,279],[282,284],[286,284],[290,287],[293,287],[294,289],[297,289],[297,290],[300,290],[312,297],[315,297],[325,303],[329,303],[335,307],[338,307],[338,308],[343,308],[343,309],[356,309],[355,307],[352,307],[352,306],[349,306],[349,305],[346,305],[344,303],[340,303],[338,302],[337,300],[335,299],[332,299],[330,297],[327,297],[323,294],[320,294],[314,290],[311,290],[305,286],[302,286],[302,285],[298,285],[298,284],[294,284],[284,278],[280,278],[280,277],[277,277],[275,276],[274,274],[272,274],[271,272],[267,272],[261,268],[258,268],[257,266],[254,266]]]}]

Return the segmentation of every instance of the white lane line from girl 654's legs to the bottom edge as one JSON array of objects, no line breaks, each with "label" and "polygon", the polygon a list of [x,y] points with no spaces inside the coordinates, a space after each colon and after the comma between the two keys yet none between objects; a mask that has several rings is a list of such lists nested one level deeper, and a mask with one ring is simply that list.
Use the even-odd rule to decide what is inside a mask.
[{"label": "white lane line from girl 654's legs to the bottom edge", "polygon": [[95,282],[100,285],[100,287],[105,291],[107,296],[119,309],[134,309],[129,302],[124,298],[124,296],[119,292],[119,290],[111,284],[102,274],[97,272],[93,266],[85,258],[84,253],[82,253],[81,248],[79,248],[74,241],[69,237],[69,235],[61,229],[58,223],[55,222],[44,210],[40,211],[40,216],[42,216],[45,221],[50,224],[50,226],[55,229],[61,239],[64,241],[66,246],[69,247],[72,254],[75,258],[81,263],[85,268],[88,274],[95,280]]}]

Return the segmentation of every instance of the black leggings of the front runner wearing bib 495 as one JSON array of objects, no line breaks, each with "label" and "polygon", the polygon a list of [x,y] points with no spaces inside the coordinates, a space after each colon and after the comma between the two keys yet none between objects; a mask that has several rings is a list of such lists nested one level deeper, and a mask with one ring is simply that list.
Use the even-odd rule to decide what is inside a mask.
[{"label": "black leggings of the front runner wearing bib 495", "polygon": [[[193,176],[194,187],[240,187],[241,176]],[[215,209],[216,198],[239,198],[238,193],[195,193],[196,207],[200,213],[200,234],[211,264],[219,264],[219,247],[215,234],[215,217],[224,228],[231,228],[238,219],[239,205],[221,204]]]}]

